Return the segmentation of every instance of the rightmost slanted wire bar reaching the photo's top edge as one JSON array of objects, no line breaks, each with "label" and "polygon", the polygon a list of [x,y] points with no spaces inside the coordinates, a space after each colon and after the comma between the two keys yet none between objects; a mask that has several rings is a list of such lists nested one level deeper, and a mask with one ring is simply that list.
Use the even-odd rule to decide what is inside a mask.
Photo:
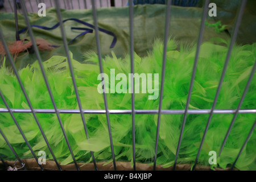
[{"label": "rightmost slanted wire bar reaching the photo's top edge", "polygon": [[205,137],[206,137],[208,128],[209,128],[209,126],[210,126],[210,121],[211,121],[211,119],[212,119],[213,110],[215,109],[215,106],[216,106],[216,104],[217,104],[218,95],[220,94],[221,85],[222,85],[222,82],[223,82],[224,77],[225,77],[226,69],[227,69],[227,67],[228,67],[229,59],[230,59],[230,56],[231,56],[231,53],[232,53],[232,49],[233,49],[233,44],[236,42],[236,38],[237,38],[237,34],[238,34],[238,29],[239,29],[239,26],[240,26],[240,23],[241,23],[242,14],[243,14],[243,10],[245,9],[246,1],[247,1],[247,0],[242,1],[240,10],[239,10],[239,12],[238,12],[238,16],[237,16],[237,18],[236,18],[236,25],[235,25],[234,30],[233,30],[233,33],[232,33],[232,39],[231,39],[231,42],[230,42],[230,45],[229,45],[229,50],[228,50],[228,53],[227,53],[227,56],[226,56],[225,65],[224,65],[224,68],[223,68],[223,70],[222,70],[220,82],[219,82],[219,84],[218,84],[218,89],[217,89],[216,95],[215,95],[215,97],[214,97],[212,109],[210,110],[210,115],[209,115],[209,118],[208,118],[207,126],[205,127],[205,131],[204,131],[203,138],[202,138],[202,140],[201,140],[201,144],[200,144],[200,147],[199,147],[199,151],[197,152],[195,164],[194,164],[193,167],[192,167],[192,170],[193,170],[193,171],[194,171],[195,168],[196,168],[196,164],[197,164],[197,161],[198,161],[198,159],[199,159],[199,155],[200,155],[200,152],[201,152],[201,148],[203,147],[204,139],[205,139]]}]

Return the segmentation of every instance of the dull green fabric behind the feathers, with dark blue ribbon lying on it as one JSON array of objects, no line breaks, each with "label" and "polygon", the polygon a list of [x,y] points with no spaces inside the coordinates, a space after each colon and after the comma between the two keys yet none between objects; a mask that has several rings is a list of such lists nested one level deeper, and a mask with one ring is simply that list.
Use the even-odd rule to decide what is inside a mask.
[{"label": "dull green fabric behind the feathers, with dark blue ribbon lying on it", "polygon": [[[233,28],[233,22],[236,15],[239,1],[228,1],[227,3],[216,0],[217,17],[210,18],[208,16],[207,22],[216,23],[221,20],[222,24],[228,25],[226,31],[217,33],[213,27],[205,27],[204,39],[207,41],[211,38],[229,39]],[[250,44],[255,42],[256,26],[255,26],[255,9],[253,6],[255,1],[247,3],[244,18],[238,35],[237,42],[242,44]],[[200,6],[200,2],[199,2]],[[165,26],[165,10],[164,5],[138,5],[134,6],[134,49],[139,56],[144,56],[147,51],[152,48],[152,43],[155,38],[164,35]],[[200,7],[179,7],[172,6],[171,8],[171,24],[170,35],[182,44],[195,45],[199,36],[200,19],[202,9]],[[93,24],[92,10],[61,10],[64,19],[77,18]],[[129,9],[128,7],[111,7],[101,8],[97,11],[98,25],[101,28],[112,31],[117,36],[117,44],[114,48],[110,49],[113,36],[100,32],[100,42],[102,55],[109,55],[111,51],[117,56],[123,56],[129,52]],[[40,26],[52,27],[58,23],[55,8],[47,10],[45,17],[39,17],[38,14],[29,14],[31,24]],[[26,27],[22,14],[18,15],[19,29]],[[13,13],[0,13],[0,27],[4,32],[7,42],[15,41],[15,21]],[[64,23],[68,42],[79,35],[82,31],[71,30],[71,27],[86,27],[77,22],[68,21]],[[60,28],[55,30],[42,30],[33,28],[36,38],[44,38],[53,45],[63,45],[61,39]],[[26,35],[20,35],[21,38],[30,39],[28,32]],[[84,60],[82,53],[96,49],[95,31],[92,34],[86,34],[76,39],[69,49],[73,52],[74,59],[78,61]],[[48,60],[53,55],[65,55],[64,47],[61,46],[52,51],[42,52],[42,60]],[[36,60],[35,54],[20,56],[16,60],[17,68],[22,68],[29,63]]]}]

